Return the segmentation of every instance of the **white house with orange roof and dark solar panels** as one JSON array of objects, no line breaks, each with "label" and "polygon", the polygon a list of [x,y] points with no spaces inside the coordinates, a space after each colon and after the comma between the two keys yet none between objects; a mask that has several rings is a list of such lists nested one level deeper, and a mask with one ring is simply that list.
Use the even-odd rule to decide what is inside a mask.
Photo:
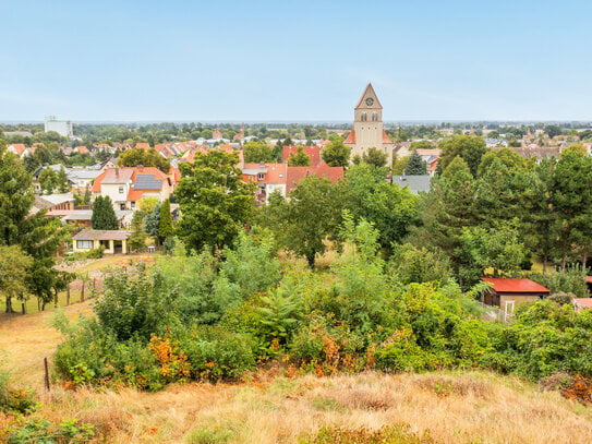
[{"label": "white house with orange roof and dark solar panels", "polygon": [[143,197],[169,199],[171,177],[155,167],[109,168],[93,183],[93,196],[109,196],[114,209],[135,209]]}]

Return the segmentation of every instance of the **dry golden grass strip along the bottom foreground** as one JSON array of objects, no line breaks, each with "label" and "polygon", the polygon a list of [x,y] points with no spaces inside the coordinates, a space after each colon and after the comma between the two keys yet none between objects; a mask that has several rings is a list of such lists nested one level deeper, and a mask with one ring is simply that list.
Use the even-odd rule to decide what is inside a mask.
[{"label": "dry golden grass strip along the bottom foreground", "polygon": [[323,425],[401,422],[437,443],[592,442],[592,409],[485,372],[311,375],[156,394],[58,389],[45,400],[49,418],[93,422],[112,443],[298,443]]}]

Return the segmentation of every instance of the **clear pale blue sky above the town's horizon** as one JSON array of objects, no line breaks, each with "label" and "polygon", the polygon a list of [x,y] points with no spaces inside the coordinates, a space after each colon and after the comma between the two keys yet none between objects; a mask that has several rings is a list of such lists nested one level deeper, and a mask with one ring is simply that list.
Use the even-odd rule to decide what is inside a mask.
[{"label": "clear pale blue sky above the town's horizon", "polygon": [[592,1],[0,0],[0,120],[592,120]]}]

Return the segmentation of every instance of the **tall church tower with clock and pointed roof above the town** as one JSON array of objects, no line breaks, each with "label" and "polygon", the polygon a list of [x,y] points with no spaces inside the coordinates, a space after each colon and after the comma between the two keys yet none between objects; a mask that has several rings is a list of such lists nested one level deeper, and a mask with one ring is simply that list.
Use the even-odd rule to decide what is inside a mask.
[{"label": "tall church tower with clock and pointed roof above the town", "polygon": [[353,113],[353,129],[345,141],[346,145],[351,147],[351,157],[362,156],[369,148],[375,147],[387,155],[390,166],[395,145],[384,131],[383,105],[371,83],[364,89]]}]

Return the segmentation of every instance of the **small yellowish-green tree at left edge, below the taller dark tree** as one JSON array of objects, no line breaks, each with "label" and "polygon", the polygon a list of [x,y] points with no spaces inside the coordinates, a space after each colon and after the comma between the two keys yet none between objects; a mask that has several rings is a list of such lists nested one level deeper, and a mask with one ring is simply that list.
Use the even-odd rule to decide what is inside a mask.
[{"label": "small yellowish-green tree at left edge, below the taller dark tree", "polygon": [[7,313],[12,313],[12,300],[25,300],[28,291],[26,277],[33,259],[19,245],[0,245],[0,293],[4,295]]}]

